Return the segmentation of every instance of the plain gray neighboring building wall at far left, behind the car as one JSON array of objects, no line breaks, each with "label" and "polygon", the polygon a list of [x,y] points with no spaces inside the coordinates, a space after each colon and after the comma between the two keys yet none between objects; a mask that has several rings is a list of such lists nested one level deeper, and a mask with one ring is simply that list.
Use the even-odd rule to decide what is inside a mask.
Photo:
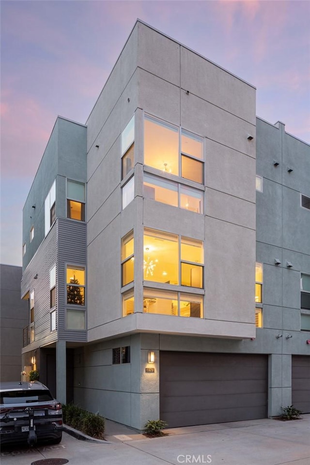
[{"label": "plain gray neighboring building wall at far left, behind the car", "polygon": [[20,300],[20,266],[0,265],[1,349],[0,380],[19,381],[23,370],[23,327],[28,324],[28,301]]}]

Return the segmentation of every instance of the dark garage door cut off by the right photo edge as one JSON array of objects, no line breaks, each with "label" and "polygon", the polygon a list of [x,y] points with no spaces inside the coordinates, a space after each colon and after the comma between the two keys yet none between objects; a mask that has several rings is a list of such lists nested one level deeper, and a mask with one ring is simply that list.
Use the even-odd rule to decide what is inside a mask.
[{"label": "dark garage door cut off by the right photo edge", "polygon": [[310,356],[292,356],[292,404],[310,413]]}]

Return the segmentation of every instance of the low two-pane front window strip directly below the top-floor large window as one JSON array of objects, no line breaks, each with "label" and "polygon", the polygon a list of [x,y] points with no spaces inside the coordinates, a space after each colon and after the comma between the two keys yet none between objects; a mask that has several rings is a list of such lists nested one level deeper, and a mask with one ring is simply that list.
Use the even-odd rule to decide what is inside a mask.
[{"label": "low two-pane front window strip directly below the top-floor large window", "polygon": [[143,196],[195,213],[203,213],[203,192],[167,179],[144,174]]}]

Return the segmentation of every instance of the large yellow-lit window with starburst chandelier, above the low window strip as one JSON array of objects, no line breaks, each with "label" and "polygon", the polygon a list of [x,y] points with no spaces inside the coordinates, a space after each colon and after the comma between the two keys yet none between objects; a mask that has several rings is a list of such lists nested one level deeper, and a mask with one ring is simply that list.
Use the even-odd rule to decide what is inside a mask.
[{"label": "large yellow-lit window with starburst chandelier, above the low window strip", "polygon": [[203,287],[202,241],[144,230],[144,280]]}]

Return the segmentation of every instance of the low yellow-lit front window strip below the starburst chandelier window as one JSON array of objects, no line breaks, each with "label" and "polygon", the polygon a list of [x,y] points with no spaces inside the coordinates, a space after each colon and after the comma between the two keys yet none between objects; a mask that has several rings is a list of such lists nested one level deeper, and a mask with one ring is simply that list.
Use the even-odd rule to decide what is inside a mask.
[{"label": "low yellow-lit front window strip below the starburst chandelier window", "polygon": [[144,289],[143,312],[202,318],[202,295]]}]

